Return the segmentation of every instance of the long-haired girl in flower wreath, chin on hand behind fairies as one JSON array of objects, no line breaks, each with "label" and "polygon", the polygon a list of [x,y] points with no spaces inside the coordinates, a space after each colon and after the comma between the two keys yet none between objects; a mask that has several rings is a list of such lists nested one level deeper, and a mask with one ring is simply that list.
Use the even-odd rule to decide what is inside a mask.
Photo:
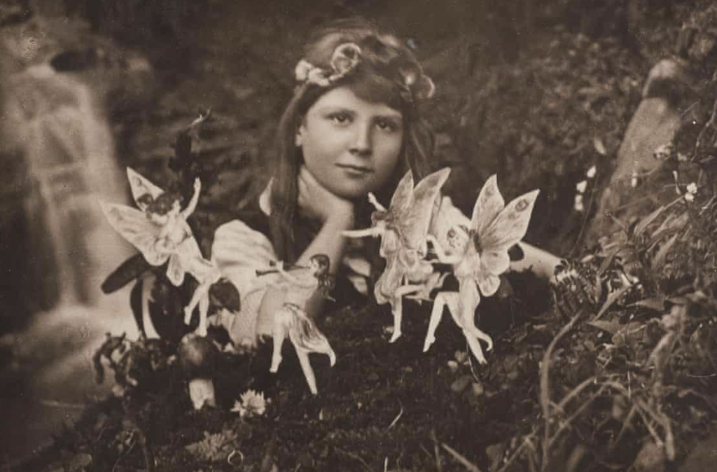
[{"label": "long-haired girl in flower wreath, chin on hand behind fairies", "polygon": [[[270,240],[252,232],[251,248],[304,266],[313,255],[326,254],[331,274],[348,265],[366,275],[369,263],[352,257],[342,232],[371,225],[369,192],[385,206],[408,170],[419,181],[436,166],[432,133],[419,113],[422,100],[433,94],[433,82],[404,42],[363,19],[314,32],[295,79],[278,128],[274,175],[258,199],[261,211],[244,219]],[[248,233],[219,233],[212,257],[221,266],[227,253],[222,248]],[[521,250],[518,270],[533,267],[551,276],[559,263],[529,245],[521,243]],[[272,333],[285,291],[247,281],[239,292],[242,311],[228,322],[228,331],[235,342],[254,344],[256,336]],[[319,313],[323,301],[312,296],[305,304],[308,316]]]}]

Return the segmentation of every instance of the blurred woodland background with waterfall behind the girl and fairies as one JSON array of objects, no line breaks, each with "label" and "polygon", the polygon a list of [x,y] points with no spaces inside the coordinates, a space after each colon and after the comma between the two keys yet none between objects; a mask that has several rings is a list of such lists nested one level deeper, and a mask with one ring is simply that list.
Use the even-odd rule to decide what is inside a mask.
[{"label": "blurred woodland background with waterfall behind the girl and fairies", "polygon": [[655,148],[709,116],[716,7],[659,3],[2,0],[0,464],[108,391],[91,371],[105,332],[137,336],[128,291],[100,291],[133,250],[98,200],[128,202],[125,166],[166,182],[176,132],[211,108],[201,148],[227,165],[201,204],[242,206],[313,26],[361,14],[408,39],[437,84],[435,167],[459,170],[447,192],[467,211],[490,174],[506,197],[541,188],[527,239],[570,256],[639,199]]}]

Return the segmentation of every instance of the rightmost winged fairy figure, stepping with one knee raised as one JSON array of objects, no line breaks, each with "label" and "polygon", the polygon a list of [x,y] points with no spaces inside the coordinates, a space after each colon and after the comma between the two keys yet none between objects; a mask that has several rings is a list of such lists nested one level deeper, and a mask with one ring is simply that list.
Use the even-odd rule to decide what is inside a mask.
[{"label": "rightmost winged fairy figure, stepping with one knee raised", "polygon": [[[511,263],[508,249],[526,235],[537,197],[538,190],[534,190],[506,205],[493,175],[481,189],[470,220],[450,205],[450,199],[443,199],[440,207],[445,208],[436,212],[428,240],[438,262],[452,265],[459,290],[437,294],[424,351],[435,341],[435,331],[447,306],[475,358],[481,364],[486,363],[479,340],[488,344],[489,351],[493,340],[475,326],[475,309],[481,293],[491,296],[498,291],[499,275],[508,270]],[[451,211],[454,214],[450,214]]]}]

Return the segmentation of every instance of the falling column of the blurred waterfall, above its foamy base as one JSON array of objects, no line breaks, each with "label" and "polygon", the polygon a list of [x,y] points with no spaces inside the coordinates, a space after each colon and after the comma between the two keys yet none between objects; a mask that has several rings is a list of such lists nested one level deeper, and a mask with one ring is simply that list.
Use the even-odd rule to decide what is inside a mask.
[{"label": "falling column of the blurred waterfall, above its foamy base", "polygon": [[42,306],[92,305],[102,278],[129,254],[98,207],[100,198],[125,200],[110,128],[87,85],[47,64],[12,77],[11,88]]}]

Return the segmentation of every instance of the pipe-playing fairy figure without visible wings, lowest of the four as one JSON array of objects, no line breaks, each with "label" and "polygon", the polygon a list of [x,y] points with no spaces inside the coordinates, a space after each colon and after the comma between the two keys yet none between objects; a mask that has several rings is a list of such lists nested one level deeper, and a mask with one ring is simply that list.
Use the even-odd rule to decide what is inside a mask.
[{"label": "pipe-playing fairy figure without visible wings, lowest of the four", "polygon": [[287,271],[284,269],[283,263],[277,263],[274,266],[281,278],[278,285],[285,288],[285,296],[283,306],[274,316],[272,328],[274,351],[270,372],[278,371],[282,360],[281,347],[288,337],[296,349],[306,383],[314,395],[318,393],[318,390],[308,354],[311,352],[326,354],[331,359],[332,366],[336,363],[336,354],[328,344],[326,336],[319,331],[306,314],[306,302],[313,293],[318,291],[326,296],[331,287],[328,267],[329,258],[326,254],[313,255],[309,259],[308,267],[295,267]]}]

